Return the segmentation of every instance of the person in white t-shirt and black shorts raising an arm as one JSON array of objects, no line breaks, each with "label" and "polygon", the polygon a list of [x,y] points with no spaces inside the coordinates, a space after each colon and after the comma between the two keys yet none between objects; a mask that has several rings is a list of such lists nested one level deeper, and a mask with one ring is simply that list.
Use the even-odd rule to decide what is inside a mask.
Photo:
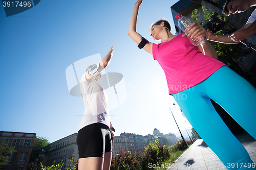
[{"label": "person in white t-shirt and black shorts raising an arm", "polygon": [[115,129],[110,122],[107,96],[98,80],[112,55],[113,47],[100,63],[87,68],[80,81],[84,112],[77,133],[79,170],[110,169]]}]

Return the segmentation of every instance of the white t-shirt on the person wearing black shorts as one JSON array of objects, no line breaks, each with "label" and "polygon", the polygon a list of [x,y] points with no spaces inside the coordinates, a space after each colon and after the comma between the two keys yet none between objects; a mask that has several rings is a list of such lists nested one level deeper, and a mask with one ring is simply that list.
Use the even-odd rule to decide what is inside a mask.
[{"label": "white t-shirt on the person wearing black shorts", "polygon": [[110,127],[110,115],[106,105],[108,96],[95,78],[87,81],[84,73],[80,81],[80,90],[84,112],[79,130],[94,123],[102,123]]}]

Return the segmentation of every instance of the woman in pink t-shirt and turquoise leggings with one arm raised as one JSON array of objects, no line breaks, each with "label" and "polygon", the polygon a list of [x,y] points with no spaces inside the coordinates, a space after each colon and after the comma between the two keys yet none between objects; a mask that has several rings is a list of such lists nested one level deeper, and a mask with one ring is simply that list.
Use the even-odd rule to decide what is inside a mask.
[{"label": "woman in pink t-shirt and turquoise leggings with one arm raised", "polygon": [[[190,124],[224,165],[228,169],[236,169],[231,164],[252,165],[247,151],[227,128],[210,99],[221,105],[256,138],[256,89],[217,60],[218,55],[207,40],[194,46],[186,35],[170,33],[166,20],[158,20],[150,29],[151,36],[161,40],[159,44],[145,40],[136,32],[141,3],[142,0],[138,0],[134,5],[129,36],[159,62],[166,76],[169,94],[174,96]],[[191,38],[203,35],[206,39],[206,30],[196,23],[188,30],[187,36]]]}]

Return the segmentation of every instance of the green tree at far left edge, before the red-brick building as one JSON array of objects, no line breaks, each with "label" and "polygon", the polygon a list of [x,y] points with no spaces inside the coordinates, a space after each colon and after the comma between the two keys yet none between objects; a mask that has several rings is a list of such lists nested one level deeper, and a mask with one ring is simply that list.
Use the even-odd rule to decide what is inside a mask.
[{"label": "green tree at far left edge, before the red-brick building", "polygon": [[14,152],[14,147],[9,146],[9,142],[6,139],[0,140],[0,170],[2,166],[8,164],[9,155],[12,155]]}]

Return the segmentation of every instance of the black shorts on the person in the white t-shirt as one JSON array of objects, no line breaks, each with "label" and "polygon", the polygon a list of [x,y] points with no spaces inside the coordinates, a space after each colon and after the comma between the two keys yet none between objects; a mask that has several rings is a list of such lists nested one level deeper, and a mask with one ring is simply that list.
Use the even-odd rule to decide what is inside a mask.
[{"label": "black shorts on the person in the white t-shirt", "polygon": [[83,127],[77,133],[79,158],[104,157],[104,153],[112,152],[112,136],[110,128],[101,123]]}]

